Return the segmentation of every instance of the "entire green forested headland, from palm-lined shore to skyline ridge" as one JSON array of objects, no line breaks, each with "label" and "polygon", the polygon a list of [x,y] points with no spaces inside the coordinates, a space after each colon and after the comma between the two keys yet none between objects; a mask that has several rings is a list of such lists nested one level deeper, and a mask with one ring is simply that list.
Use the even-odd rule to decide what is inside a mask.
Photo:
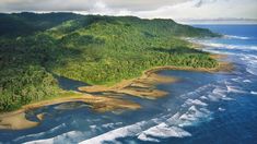
[{"label": "entire green forested headland, from palm-lined shore to skyline ridge", "polygon": [[172,20],[72,13],[0,14],[0,111],[58,96],[52,75],[114,84],[159,65],[214,68],[180,37],[219,36]]}]

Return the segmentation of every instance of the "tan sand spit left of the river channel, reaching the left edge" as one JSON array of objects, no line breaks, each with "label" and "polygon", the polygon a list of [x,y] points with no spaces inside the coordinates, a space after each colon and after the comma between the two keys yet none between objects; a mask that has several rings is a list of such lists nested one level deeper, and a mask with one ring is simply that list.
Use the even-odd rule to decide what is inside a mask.
[{"label": "tan sand spit left of the river channel, reaching the left edge", "polygon": [[[25,111],[50,106],[55,104],[62,104],[69,101],[82,101],[89,104],[90,107],[97,112],[113,111],[119,109],[136,110],[140,105],[121,98],[113,98],[112,96],[93,96],[90,94],[74,94],[67,97],[44,100],[34,103],[22,107],[20,110],[5,112],[0,115],[0,129],[8,130],[23,130],[38,125],[40,122],[30,121],[25,117]],[[44,113],[36,116],[39,121],[44,120]]]}]

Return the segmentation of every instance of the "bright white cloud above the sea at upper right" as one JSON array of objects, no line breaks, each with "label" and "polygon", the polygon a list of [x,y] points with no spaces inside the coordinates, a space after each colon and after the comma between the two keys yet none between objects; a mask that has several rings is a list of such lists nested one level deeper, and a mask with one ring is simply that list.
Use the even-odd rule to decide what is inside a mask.
[{"label": "bright white cloud above the sea at upper right", "polygon": [[[200,3],[200,4],[199,4]],[[257,17],[257,1],[253,0],[191,0],[176,5],[164,5],[154,11],[135,12],[142,17],[215,19]]]}]

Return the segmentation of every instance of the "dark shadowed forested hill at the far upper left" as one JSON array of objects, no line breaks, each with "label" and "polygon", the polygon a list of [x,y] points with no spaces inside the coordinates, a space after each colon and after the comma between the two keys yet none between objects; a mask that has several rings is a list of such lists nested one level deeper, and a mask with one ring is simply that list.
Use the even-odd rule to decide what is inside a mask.
[{"label": "dark shadowed forested hill at the far upper left", "polygon": [[0,13],[0,36],[26,36],[39,31],[57,26],[69,20],[77,20],[82,15],[73,13]]}]

